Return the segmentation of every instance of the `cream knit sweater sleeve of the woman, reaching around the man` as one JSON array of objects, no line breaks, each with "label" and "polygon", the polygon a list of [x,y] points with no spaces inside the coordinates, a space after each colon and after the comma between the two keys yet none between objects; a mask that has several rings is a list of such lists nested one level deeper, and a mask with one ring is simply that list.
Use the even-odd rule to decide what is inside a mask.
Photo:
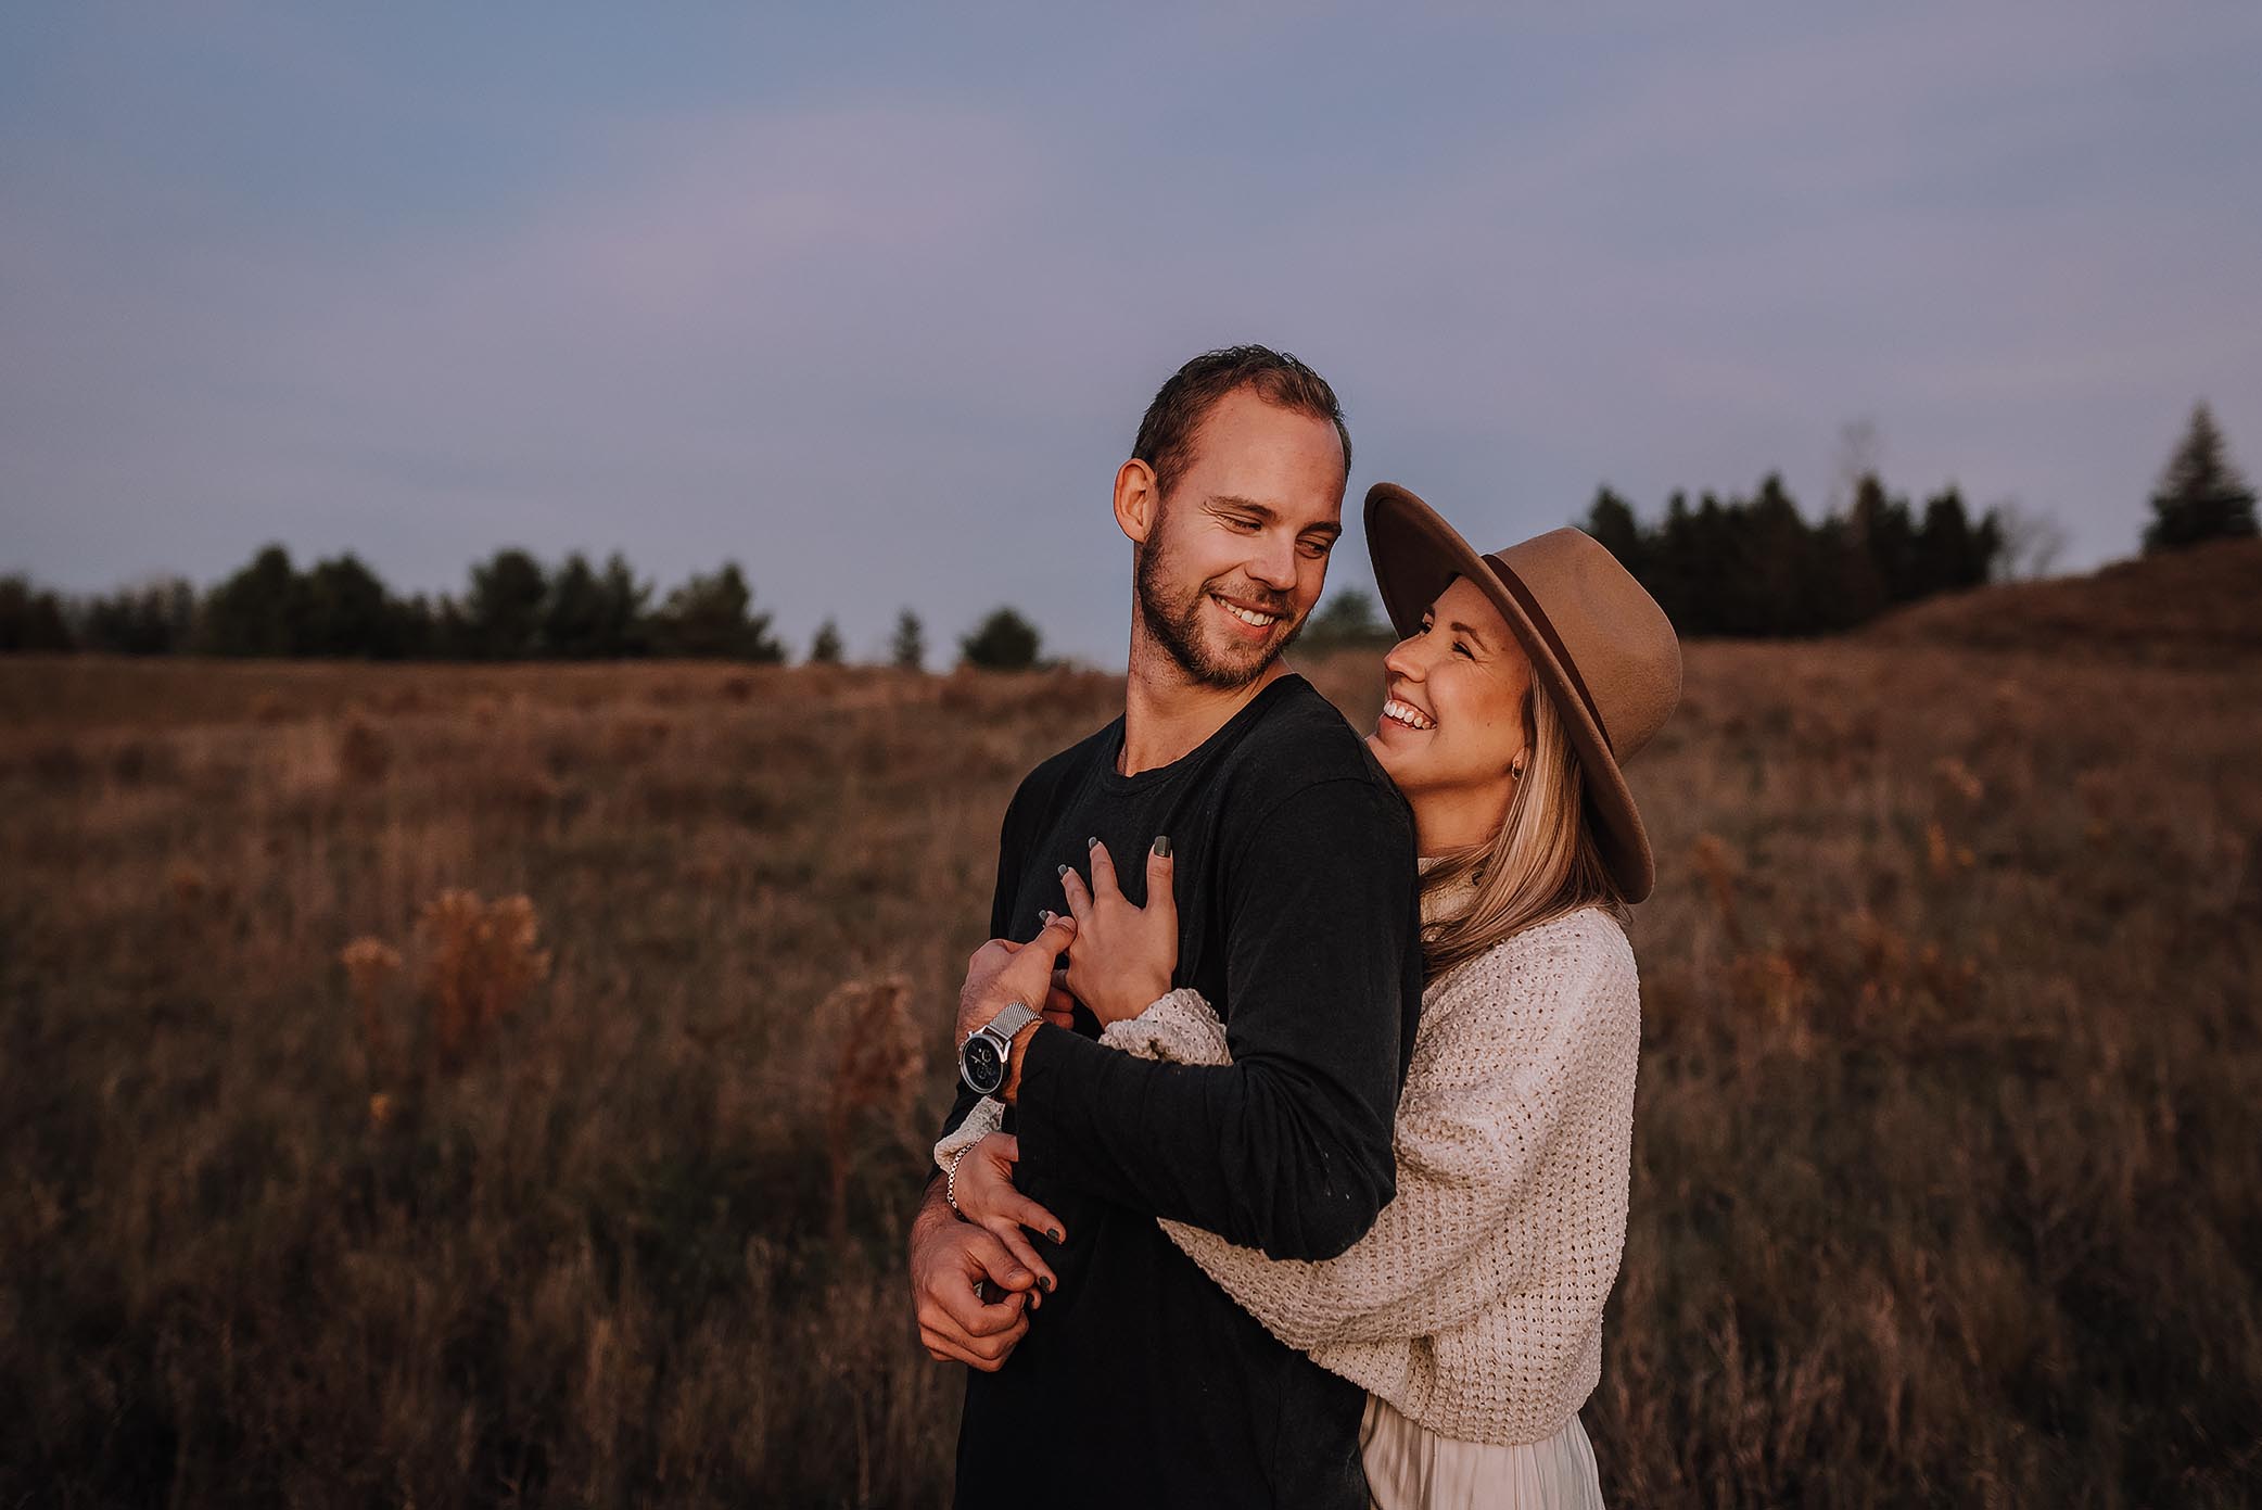
[{"label": "cream knit sweater sleeve of the woman, reaching around the man", "polygon": [[[1400,1103],[1398,1195],[1350,1250],[1316,1263],[1267,1259],[1165,1220],[1172,1243],[1298,1349],[1432,1336],[1495,1304],[1516,1275],[1479,1256],[1529,1254],[1538,1225],[1559,1218],[1556,1200],[1529,1198],[1529,1179],[1565,1114],[1608,1091],[1640,1037],[1638,992],[1617,953],[1579,946],[1534,964],[1511,973],[1484,960],[1477,978],[1454,983],[1475,996],[1434,1026],[1439,1041]],[[1192,1041],[1147,1032],[1160,1037]],[[1124,1046],[1149,1048],[1129,1037]],[[1502,1243],[1518,1225],[1534,1241]],[[1590,1299],[1599,1309],[1604,1297]]]}]

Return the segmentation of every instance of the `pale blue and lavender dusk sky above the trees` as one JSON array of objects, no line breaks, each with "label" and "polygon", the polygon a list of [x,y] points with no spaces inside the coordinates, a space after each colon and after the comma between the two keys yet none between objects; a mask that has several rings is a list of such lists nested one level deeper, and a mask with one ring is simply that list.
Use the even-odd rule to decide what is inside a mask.
[{"label": "pale blue and lavender dusk sky above the trees", "polygon": [[11,5],[0,570],[618,546],[1120,663],[1108,480],[1240,340],[1479,548],[1819,512],[1857,419],[2067,566],[2194,398],[2262,473],[2262,7],[1570,9]]}]

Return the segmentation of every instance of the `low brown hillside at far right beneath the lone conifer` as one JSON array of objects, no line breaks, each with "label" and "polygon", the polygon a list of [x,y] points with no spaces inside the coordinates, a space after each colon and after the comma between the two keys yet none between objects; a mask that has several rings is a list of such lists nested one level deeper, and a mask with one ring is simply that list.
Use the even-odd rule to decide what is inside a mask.
[{"label": "low brown hillside at far right beneath the lone conifer", "polygon": [[1880,618],[1864,638],[2172,663],[2253,657],[2262,654],[2262,539],[1950,593]]}]

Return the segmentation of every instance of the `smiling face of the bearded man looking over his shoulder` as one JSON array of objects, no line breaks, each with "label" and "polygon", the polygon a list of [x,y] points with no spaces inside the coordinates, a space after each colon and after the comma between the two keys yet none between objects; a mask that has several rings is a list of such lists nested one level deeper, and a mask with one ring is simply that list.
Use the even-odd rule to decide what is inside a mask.
[{"label": "smiling face of the bearded man looking over his shoulder", "polygon": [[1303,629],[1344,532],[1335,426],[1240,387],[1194,432],[1138,552],[1147,634],[1212,688],[1255,681]]}]

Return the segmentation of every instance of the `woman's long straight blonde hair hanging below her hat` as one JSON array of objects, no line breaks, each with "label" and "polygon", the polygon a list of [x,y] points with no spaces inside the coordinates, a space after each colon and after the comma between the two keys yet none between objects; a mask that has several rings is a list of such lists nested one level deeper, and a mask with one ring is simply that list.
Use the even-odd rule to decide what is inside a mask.
[{"label": "woman's long straight blonde hair hanging below her hat", "polygon": [[1586,770],[1563,715],[1534,679],[1525,693],[1525,774],[1488,844],[1470,844],[1423,874],[1423,896],[1475,878],[1477,894],[1454,917],[1423,926],[1423,967],[1436,980],[1504,937],[1579,908],[1631,921],[1586,817]]}]

